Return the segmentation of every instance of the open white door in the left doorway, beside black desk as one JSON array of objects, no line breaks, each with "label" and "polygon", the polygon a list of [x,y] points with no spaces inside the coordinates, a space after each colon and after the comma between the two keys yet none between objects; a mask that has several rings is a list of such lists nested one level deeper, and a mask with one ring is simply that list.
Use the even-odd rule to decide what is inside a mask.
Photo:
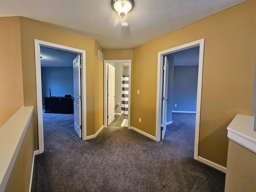
[{"label": "open white door in the left doorway, beside black desk", "polygon": [[74,82],[74,129],[79,138],[82,137],[81,122],[81,61],[80,54],[73,60],[73,82]]}]

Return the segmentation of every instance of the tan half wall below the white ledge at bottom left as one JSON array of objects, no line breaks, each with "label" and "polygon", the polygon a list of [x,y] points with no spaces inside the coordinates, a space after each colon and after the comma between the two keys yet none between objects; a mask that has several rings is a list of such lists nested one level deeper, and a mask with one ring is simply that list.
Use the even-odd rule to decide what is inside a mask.
[{"label": "tan half wall below the white ledge at bottom left", "polygon": [[31,118],[4,192],[28,192],[34,156],[34,125]]}]

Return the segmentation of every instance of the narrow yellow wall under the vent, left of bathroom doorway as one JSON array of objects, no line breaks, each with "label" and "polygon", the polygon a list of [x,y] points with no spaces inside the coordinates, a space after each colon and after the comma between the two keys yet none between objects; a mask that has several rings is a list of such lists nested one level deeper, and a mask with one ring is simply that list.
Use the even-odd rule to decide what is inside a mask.
[{"label": "narrow yellow wall under the vent, left of bathroom doorway", "polygon": [[103,126],[103,61],[98,58],[98,50],[103,53],[101,46],[94,42],[94,95],[95,95],[95,133]]}]

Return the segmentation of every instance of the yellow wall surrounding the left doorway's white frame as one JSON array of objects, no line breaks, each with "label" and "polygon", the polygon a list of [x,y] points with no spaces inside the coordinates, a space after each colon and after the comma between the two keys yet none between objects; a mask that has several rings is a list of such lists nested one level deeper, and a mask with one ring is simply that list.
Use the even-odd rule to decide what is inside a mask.
[{"label": "yellow wall surrounding the left doorway's white frame", "polygon": [[[78,48],[86,51],[86,105],[87,136],[95,133],[94,96],[94,40],[28,18],[20,17],[24,105],[34,108],[34,144],[38,149],[36,72],[34,39]],[[103,107],[103,106],[102,106]]]}]

